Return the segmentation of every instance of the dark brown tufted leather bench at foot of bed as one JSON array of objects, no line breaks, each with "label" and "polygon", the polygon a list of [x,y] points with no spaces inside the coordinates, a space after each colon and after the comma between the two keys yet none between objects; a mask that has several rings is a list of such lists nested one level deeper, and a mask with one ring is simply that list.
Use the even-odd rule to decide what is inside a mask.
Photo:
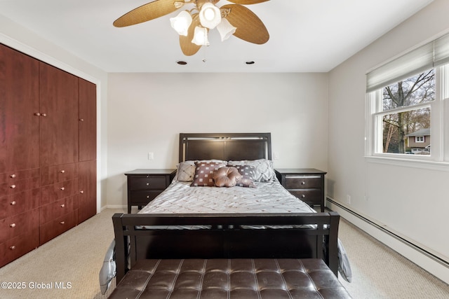
[{"label": "dark brown tufted leather bench at foot of bed", "polygon": [[109,298],[351,298],[321,259],[139,260]]}]

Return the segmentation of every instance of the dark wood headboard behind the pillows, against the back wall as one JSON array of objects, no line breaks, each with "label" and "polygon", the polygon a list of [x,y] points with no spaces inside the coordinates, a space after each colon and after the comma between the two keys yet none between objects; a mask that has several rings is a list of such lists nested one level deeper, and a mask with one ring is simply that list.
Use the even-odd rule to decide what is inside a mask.
[{"label": "dark wood headboard behind the pillows, against the back wall", "polygon": [[271,133],[180,133],[180,159],[272,160]]}]

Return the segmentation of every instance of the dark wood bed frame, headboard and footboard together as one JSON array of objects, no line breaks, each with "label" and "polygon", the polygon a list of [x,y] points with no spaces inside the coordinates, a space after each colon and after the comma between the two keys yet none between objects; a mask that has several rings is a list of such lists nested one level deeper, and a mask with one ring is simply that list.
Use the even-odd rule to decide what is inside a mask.
[{"label": "dark wood bed frame, headboard and footboard together", "polygon": [[[270,133],[180,134],[184,160],[271,159]],[[116,281],[145,258],[322,258],[338,270],[336,212],[310,214],[114,214]],[[208,225],[154,229],[149,225]],[[242,226],[243,225],[243,226]],[[248,229],[244,225],[307,225]],[[128,260],[129,258],[129,260]]]}]

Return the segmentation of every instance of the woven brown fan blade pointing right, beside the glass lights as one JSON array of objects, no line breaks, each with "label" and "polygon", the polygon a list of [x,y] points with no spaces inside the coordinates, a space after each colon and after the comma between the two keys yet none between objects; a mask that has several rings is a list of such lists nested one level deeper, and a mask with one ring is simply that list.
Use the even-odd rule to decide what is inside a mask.
[{"label": "woven brown fan blade pointing right, beside the glass lights", "polygon": [[255,13],[245,6],[228,4],[220,7],[220,10],[229,10],[226,18],[232,26],[237,28],[234,36],[243,39],[243,41],[257,43],[258,45],[267,43],[269,40],[269,33],[264,23],[262,23]]}]

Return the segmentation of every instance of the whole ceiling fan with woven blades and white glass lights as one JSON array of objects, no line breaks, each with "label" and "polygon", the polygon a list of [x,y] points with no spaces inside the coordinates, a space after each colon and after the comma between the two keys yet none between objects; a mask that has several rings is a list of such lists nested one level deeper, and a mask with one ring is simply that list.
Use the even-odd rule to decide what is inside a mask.
[{"label": "whole ceiling fan with woven blades and white glass lights", "polygon": [[114,21],[115,27],[126,27],[173,13],[182,7],[189,7],[170,24],[180,34],[182,53],[194,55],[201,46],[209,46],[208,31],[217,28],[222,41],[234,35],[243,41],[263,44],[269,39],[264,23],[243,5],[259,4],[269,0],[228,0],[218,8],[220,0],[155,0],[125,13]]}]

